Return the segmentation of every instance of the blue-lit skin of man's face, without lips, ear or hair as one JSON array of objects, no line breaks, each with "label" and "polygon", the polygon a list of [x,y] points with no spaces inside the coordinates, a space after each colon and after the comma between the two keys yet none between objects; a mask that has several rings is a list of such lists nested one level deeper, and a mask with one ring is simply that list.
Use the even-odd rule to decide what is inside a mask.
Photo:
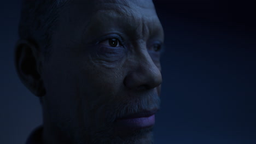
[{"label": "blue-lit skin of man's face, without lips, ear or hair", "polygon": [[56,25],[40,73],[44,143],[153,143],[152,127],[115,125],[160,108],[164,32],[153,2],[74,0]]}]

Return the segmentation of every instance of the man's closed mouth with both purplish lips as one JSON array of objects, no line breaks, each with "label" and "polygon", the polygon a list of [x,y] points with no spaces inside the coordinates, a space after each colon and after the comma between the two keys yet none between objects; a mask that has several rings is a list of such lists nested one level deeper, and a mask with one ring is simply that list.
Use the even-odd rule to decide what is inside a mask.
[{"label": "man's closed mouth with both purplish lips", "polygon": [[116,120],[116,124],[121,129],[142,129],[153,127],[155,124],[155,113],[158,109],[143,110],[138,113],[133,113]]}]

